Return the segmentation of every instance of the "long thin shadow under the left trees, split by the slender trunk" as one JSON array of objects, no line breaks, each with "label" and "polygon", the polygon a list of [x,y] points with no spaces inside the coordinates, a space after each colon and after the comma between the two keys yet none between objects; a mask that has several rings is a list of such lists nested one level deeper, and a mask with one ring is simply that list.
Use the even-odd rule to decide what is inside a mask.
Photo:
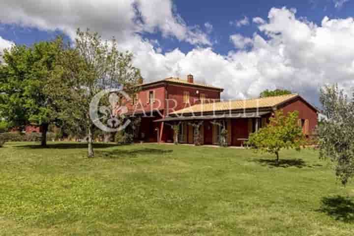
[{"label": "long thin shadow under the left trees, split by the slender trunk", "polygon": [[[112,148],[117,147],[117,144],[105,144],[105,143],[94,143],[93,148]],[[47,147],[42,147],[38,145],[22,145],[16,148],[31,148],[31,149],[41,149],[41,148],[55,148],[55,149],[76,149],[76,148],[87,148],[87,143],[63,143],[63,144],[48,144]]]}]

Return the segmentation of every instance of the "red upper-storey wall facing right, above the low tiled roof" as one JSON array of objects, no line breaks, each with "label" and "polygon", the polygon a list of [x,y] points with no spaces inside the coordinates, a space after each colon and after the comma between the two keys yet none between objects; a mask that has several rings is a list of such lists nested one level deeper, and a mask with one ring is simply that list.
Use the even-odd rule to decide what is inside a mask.
[{"label": "red upper-storey wall facing right, above the low tiled roof", "polygon": [[[183,101],[183,92],[189,92],[189,104]],[[197,91],[199,93],[197,94]],[[206,94],[206,99],[220,99],[220,91],[213,89],[200,89],[179,85],[168,85],[169,113],[200,103],[200,94]],[[176,101],[176,102],[174,102]]]}]

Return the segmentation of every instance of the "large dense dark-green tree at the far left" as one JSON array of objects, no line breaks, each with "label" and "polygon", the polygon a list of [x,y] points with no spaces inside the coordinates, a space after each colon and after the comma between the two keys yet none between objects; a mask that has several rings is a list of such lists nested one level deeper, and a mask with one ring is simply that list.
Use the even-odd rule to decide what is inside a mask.
[{"label": "large dense dark-green tree at the far left", "polygon": [[63,50],[59,37],[32,47],[13,46],[5,50],[0,65],[0,114],[11,126],[30,123],[42,126],[41,145],[47,145],[47,131],[57,120],[55,108],[44,88],[55,68],[56,56]]}]

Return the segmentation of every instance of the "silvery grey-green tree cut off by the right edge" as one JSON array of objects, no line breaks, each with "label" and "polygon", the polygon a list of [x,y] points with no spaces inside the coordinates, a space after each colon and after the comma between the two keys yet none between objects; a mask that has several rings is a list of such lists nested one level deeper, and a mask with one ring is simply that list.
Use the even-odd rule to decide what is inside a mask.
[{"label": "silvery grey-green tree cut off by the right edge", "polygon": [[320,102],[327,119],[318,128],[321,158],[330,158],[335,174],[342,184],[354,176],[354,95],[349,100],[345,92],[335,86],[320,90]]}]

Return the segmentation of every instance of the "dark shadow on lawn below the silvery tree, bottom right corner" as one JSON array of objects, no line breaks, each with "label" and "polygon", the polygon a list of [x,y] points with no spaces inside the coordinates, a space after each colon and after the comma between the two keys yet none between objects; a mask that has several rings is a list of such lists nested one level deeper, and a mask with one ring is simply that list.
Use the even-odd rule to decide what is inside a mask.
[{"label": "dark shadow on lawn below the silvery tree, bottom right corner", "polygon": [[348,197],[324,197],[319,211],[328,214],[338,221],[346,223],[354,222],[354,202]]}]

